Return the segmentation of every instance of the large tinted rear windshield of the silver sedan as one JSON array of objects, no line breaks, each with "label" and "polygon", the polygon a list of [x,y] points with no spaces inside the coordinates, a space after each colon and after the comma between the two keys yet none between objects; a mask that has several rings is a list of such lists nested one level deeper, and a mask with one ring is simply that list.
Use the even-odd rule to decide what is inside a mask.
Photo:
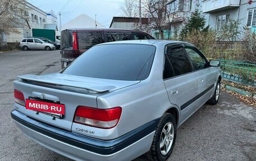
[{"label": "large tinted rear windshield of the silver sedan", "polygon": [[87,50],[62,73],[113,80],[144,80],[149,75],[155,51],[153,45],[98,45]]}]

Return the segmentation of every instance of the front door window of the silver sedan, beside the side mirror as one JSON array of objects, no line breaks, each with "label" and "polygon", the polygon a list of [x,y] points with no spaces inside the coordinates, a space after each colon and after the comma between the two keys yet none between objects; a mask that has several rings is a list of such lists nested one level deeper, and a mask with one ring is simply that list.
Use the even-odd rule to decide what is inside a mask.
[{"label": "front door window of the silver sedan, beside the side mirror", "polygon": [[195,70],[200,70],[207,67],[207,60],[197,49],[192,47],[185,47],[185,50],[186,53],[188,53],[188,56]]}]

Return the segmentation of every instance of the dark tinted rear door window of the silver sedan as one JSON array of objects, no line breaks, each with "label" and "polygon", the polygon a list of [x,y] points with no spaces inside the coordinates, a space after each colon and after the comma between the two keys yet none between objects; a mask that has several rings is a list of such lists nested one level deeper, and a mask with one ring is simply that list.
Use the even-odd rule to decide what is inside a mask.
[{"label": "dark tinted rear door window of the silver sedan", "polygon": [[191,71],[192,68],[184,49],[182,47],[173,48],[173,45],[167,45],[163,78],[168,79]]}]

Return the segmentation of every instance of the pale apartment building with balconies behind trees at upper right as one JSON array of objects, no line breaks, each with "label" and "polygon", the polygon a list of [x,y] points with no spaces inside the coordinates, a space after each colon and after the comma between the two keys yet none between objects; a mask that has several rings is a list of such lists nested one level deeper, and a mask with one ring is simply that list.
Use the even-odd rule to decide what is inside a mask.
[{"label": "pale apartment building with balconies behind trees at upper right", "polygon": [[[191,12],[199,10],[205,17],[206,24],[214,30],[221,27],[228,20],[239,20],[239,29],[247,28],[256,31],[256,1],[248,3],[249,0],[167,0],[159,1],[165,3],[166,13],[171,23],[167,24],[169,29],[164,30],[164,39],[179,35],[184,26],[185,19]],[[168,18],[168,17],[167,17]],[[153,33],[159,38],[158,31]]]}]

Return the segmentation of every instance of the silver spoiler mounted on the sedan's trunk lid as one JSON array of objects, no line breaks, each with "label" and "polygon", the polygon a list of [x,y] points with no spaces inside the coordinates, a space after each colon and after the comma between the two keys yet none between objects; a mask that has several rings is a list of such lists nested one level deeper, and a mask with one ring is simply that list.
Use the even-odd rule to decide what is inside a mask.
[{"label": "silver spoiler mounted on the sedan's trunk lid", "polygon": [[66,79],[60,80],[54,77],[44,77],[44,76],[38,76],[38,75],[21,75],[21,76],[17,76],[17,78],[21,80],[31,81],[31,82],[39,82],[47,85],[61,86],[63,88],[85,89],[88,91],[88,93],[102,93],[102,92],[109,91],[116,88],[116,86],[109,86],[104,84],[92,84],[90,82],[71,81]]}]

